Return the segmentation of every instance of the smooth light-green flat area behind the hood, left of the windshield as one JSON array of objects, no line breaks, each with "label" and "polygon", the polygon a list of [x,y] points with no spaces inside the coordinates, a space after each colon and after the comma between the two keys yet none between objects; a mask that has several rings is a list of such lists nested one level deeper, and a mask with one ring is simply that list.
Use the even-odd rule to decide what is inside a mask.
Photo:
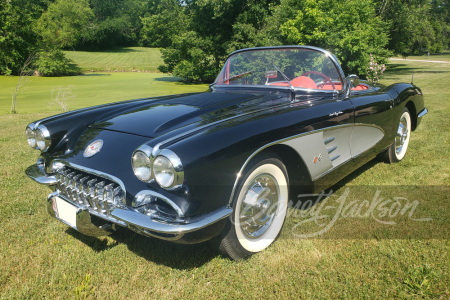
[{"label": "smooth light-green flat area behind the hood, left of the windshield", "polygon": [[[16,76],[0,76],[0,114],[11,109],[11,92]],[[23,113],[55,112],[55,91],[69,88],[73,98],[69,108],[76,109],[96,104],[137,99],[167,94],[202,92],[208,85],[188,85],[178,78],[161,73],[88,73],[69,77],[31,77],[17,97],[16,110]],[[53,96],[52,96],[53,93]]]}]

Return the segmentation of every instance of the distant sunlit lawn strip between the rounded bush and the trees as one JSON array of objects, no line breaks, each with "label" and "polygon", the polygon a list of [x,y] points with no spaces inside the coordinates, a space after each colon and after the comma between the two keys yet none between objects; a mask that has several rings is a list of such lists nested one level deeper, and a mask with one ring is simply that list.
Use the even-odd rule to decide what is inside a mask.
[{"label": "distant sunlit lawn strip between the rounded bush and the trees", "polygon": [[153,71],[163,64],[157,48],[123,47],[109,51],[64,51],[83,71]]}]

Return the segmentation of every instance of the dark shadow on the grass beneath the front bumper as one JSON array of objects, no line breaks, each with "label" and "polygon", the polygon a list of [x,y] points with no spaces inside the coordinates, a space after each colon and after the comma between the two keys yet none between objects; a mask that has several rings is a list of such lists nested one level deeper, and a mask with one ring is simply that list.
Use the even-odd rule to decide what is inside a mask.
[{"label": "dark shadow on the grass beneath the front bumper", "polygon": [[95,252],[107,251],[125,244],[136,255],[171,268],[185,270],[200,267],[218,256],[207,242],[200,244],[176,244],[156,238],[145,237],[129,229],[118,227],[109,237],[90,237],[68,228],[66,233],[91,247]]}]

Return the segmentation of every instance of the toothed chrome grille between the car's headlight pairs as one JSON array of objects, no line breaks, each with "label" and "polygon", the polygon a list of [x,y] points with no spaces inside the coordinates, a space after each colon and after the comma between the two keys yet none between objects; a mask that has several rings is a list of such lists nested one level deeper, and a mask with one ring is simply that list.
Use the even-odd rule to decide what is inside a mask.
[{"label": "toothed chrome grille between the car's headlight pairs", "polygon": [[112,209],[125,204],[125,192],[111,179],[64,166],[56,180],[62,196],[97,215],[111,218]]}]

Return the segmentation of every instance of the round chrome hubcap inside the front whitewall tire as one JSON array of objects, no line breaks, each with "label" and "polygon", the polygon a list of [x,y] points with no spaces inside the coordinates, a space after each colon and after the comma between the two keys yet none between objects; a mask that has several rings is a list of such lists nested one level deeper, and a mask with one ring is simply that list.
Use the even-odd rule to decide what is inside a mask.
[{"label": "round chrome hubcap inside the front whitewall tire", "polygon": [[277,212],[279,188],[269,174],[255,177],[244,187],[244,200],[239,208],[242,232],[249,238],[258,238],[269,229]]}]

